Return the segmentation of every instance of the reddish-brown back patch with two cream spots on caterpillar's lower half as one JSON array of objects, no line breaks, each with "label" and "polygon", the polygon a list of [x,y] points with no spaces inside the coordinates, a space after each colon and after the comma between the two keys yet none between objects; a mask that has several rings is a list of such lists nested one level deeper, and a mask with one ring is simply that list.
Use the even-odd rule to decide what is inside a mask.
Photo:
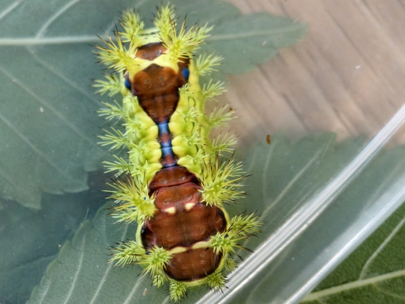
[{"label": "reddish-brown back patch with two cream spots on caterpillar's lower half", "polygon": [[[226,219],[223,212],[200,202],[201,189],[193,183],[186,183],[156,191],[154,204],[157,212],[145,221],[141,232],[145,248],[155,245],[165,249],[191,247],[196,242],[208,240],[218,231],[224,231]],[[186,208],[191,203],[194,206]]]}]

